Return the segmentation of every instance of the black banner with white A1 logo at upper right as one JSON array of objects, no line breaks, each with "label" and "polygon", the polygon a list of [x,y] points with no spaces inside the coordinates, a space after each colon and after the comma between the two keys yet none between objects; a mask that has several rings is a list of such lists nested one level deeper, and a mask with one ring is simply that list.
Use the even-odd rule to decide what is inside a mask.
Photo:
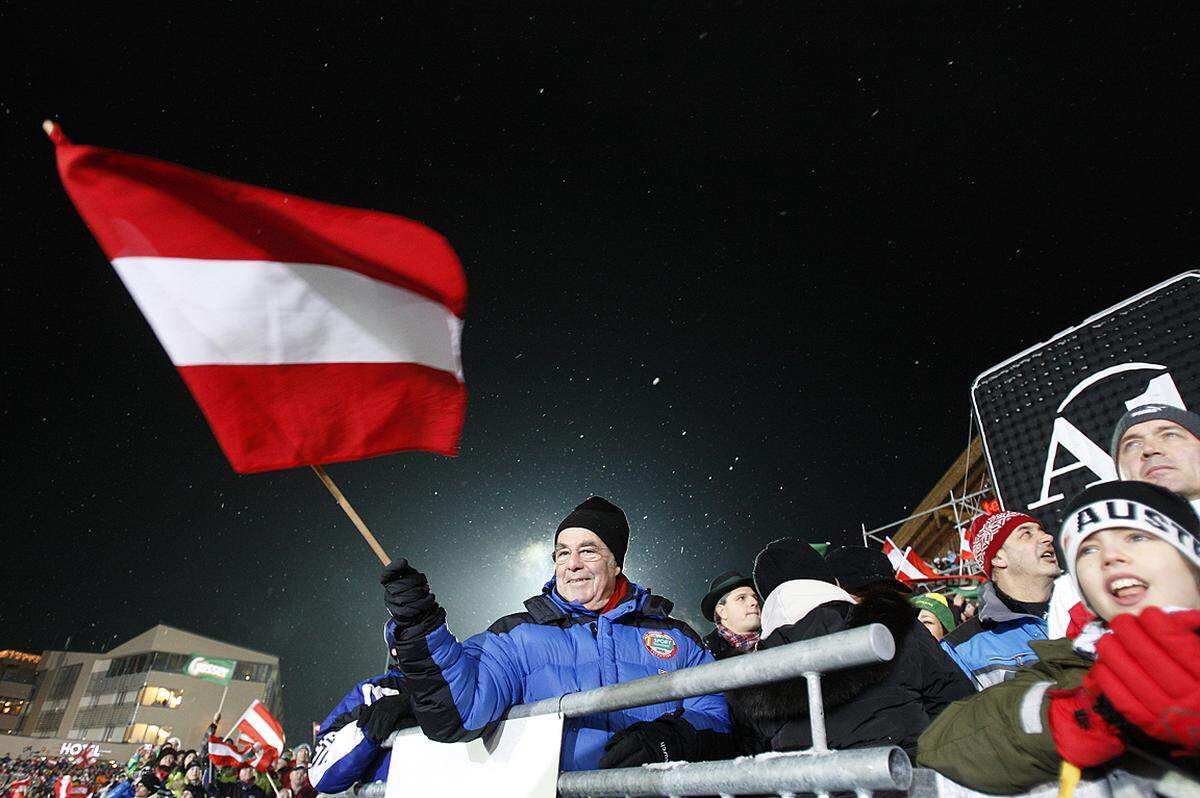
[{"label": "black banner with white A1 logo at upper right", "polygon": [[1109,446],[1127,409],[1200,409],[1200,271],[989,368],[971,401],[1001,505],[1056,528],[1073,496],[1116,479]]}]

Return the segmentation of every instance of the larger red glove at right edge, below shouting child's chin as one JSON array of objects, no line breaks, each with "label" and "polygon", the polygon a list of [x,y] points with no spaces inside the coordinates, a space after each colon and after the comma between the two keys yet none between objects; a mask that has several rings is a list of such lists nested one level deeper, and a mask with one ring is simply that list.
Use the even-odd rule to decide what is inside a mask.
[{"label": "larger red glove at right edge, below shouting child's chin", "polygon": [[1200,752],[1200,611],[1117,616],[1084,680],[1156,739]]}]

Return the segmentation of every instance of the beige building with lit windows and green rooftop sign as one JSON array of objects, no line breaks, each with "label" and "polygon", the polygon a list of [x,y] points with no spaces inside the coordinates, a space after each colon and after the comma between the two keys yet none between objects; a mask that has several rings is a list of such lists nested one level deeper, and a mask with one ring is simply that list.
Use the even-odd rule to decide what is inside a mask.
[{"label": "beige building with lit windows and green rooftop sign", "polygon": [[218,708],[228,724],[254,698],[283,719],[277,656],[158,625],[103,654],[43,652],[17,733],[197,748]]}]

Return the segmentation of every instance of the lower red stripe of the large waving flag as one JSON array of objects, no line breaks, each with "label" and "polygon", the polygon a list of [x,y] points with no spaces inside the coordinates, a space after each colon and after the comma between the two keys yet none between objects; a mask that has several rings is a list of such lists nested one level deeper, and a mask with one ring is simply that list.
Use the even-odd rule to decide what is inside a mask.
[{"label": "lower red stripe of the large waving flag", "polygon": [[467,409],[467,388],[454,374],[416,364],[184,366],[179,373],[242,474],[412,449],[454,455]]}]

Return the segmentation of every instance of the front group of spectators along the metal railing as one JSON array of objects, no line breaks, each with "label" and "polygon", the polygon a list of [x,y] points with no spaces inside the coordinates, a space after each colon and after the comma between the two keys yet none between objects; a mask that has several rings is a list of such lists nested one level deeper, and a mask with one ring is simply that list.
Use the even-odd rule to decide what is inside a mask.
[{"label": "front group of spectators along the metal railing", "polygon": [[[1022,792],[1060,773],[1066,780],[1072,769],[1127,767],[1130,756],[1194,774],[1200,415],[1134,408],[1116,426],[1112,457],[1118,479],[1076,497],[1061,529],[1013,511],[976,520],[973,569],[985,581],[974,588],[946,580],[914,590],[880,551],[822,556],[784,538],[746,570],[725,564],[734,568],[701,602],[714,624],[703,637],[625,574],[629,523],[600,497],[558,526],[542,592],[463,641],[446,628],[426,576],[396,560],[382,576],[391,665],[354,685],[322,724],[313,784],[337,792],[386,779],[383,742],[398,728],[474,739],[516,703],[870,623],[892,632],[896,654],[826,674],[830,748],[896,745],[918,764],[991,792]],[[964,570],[954,554],[935,563]],[[1052,595],[1069,617],[1055,634]],[[798,680],[566,719],[560,767],[800,750],[811,745],[808,714]]]}]

